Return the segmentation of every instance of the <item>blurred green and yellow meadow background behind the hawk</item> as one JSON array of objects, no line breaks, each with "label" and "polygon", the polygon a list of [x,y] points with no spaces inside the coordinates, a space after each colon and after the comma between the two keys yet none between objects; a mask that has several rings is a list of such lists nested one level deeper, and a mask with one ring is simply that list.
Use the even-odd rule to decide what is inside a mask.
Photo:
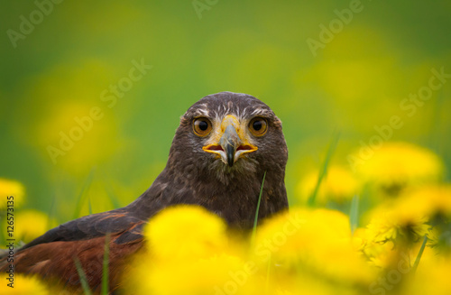
[{"label": "blurred green and yellow meadow background behind the hawk", "polygon": [[[403,126],[391,141],[426,147],[451,167],[451,79],[414,115],[400,108],[431,69],[451,73],[449,1],[362,1],[342,27],[336,11],[354,1],[37,3],[47,4],[41,20],[32,1],[0,5],[0,178],[23,183],[23,207],[67,221],[87,183],[92,211],[128,204],[163,169],[179,116],[225,90],[259,97],[281,118],[291,204],[334,133],[333,161],[348,167],[392,115]],[[23,19],[34,20],[32,32],[21,32],[31,31]],[[331,22],[330,40],[311,51],[309,38],[320,41]],[[128,77],[132,60],[152,69],[110,108],[102,93]],[[92,107],[104,116],[54,163],[48,147]]]}]

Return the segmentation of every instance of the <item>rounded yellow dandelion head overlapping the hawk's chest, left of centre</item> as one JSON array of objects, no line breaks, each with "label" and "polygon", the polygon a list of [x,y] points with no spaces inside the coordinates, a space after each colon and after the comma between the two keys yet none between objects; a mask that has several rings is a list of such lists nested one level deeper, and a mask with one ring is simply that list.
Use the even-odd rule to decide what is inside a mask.
[{"label": "rounded yellow dandelion head overlapping the hawk's chest, left of centre", "polygon": [[197,259],[226,249],[226,223],[197,206],[166,208],[144,228],[153,255],[164,260]]}]

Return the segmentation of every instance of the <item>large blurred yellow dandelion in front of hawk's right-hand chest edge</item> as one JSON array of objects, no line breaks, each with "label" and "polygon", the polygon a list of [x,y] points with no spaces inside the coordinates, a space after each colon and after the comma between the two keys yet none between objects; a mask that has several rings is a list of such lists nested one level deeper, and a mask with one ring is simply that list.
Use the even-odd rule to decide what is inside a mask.
[{"label": "large blurred yellow dandelion in front of hawk's right-hand chest edge", "polygon": [[348,217],[333,210],[295,208],[273,217],[257,229],[253,257],[262,267],[271,260],[334,281],[372,278],[353,245]]}]

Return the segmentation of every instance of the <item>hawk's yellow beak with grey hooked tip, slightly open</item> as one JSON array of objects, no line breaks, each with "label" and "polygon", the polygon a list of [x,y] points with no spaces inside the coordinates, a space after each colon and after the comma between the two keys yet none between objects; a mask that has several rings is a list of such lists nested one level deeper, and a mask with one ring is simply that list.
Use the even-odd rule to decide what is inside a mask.
[{"label": "hawk's yellow beak with grey hooked tip, slightly open", "polygon": [[202,150],[216,153],[230,167],[245,153],[257,151],[258,148],[249,142],[247,126],[240,124],[235,115],[226,115],[214,128],[213,136]]}]

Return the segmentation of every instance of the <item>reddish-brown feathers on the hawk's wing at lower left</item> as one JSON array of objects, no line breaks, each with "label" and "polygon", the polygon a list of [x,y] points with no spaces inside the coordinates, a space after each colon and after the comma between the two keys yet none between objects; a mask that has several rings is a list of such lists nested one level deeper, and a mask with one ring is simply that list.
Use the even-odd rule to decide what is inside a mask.
[{"label": "reddish-brown feathers on the hawk's wing at lower left", "polygon": [[[109,242],[109,286],[110,291],[119,286],[122,273],[127,268],[130,256],[143,246],[143,239],[131,244],[116,244],[119,235],[111,236]],[[106,237],[88,240],[37,244],[15,254],[15,272],[38,274],[45,281],[53,281],[66,288],[80,289],[80,280],[75,264],[77,257],[91,290],[100,290]],[[3,263],[2,263],[3,264]],[[2,265],[1,272],[8,265]]]}]

